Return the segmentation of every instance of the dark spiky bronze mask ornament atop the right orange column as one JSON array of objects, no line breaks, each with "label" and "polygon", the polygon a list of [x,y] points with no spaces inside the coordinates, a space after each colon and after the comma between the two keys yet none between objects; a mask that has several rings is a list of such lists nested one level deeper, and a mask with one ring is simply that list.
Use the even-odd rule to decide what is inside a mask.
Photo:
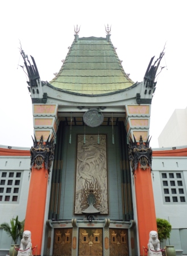
[{"label": "dark spiky bronze mask ornament atop the right orange column", "polygon": [[140,163],[140,168],[146,170],[146,168],[151,168],[152,170],[152,149],[149,147],[149,142],[151,138],[147,139],[147,142],[143,143],[142,136],[140,136],[139,144],[136,142],[134,137],[134,142],[130,138],[128,146],[128,158],[131,163],[132,172],[134,174],[136,168],[138,167],[138,162]]}]

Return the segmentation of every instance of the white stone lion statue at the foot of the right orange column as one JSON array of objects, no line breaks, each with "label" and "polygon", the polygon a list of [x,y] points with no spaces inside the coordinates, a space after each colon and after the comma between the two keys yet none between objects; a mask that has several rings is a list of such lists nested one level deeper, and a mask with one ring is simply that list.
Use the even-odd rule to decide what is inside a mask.
[{"label": "white stone lion statue at the foot of the right orange column", "polygon": [[160,241],[158,239],[158,233],[156,231],[152,230],[149,233],[148,248],[149,255],[162,255],[160,251]]}]

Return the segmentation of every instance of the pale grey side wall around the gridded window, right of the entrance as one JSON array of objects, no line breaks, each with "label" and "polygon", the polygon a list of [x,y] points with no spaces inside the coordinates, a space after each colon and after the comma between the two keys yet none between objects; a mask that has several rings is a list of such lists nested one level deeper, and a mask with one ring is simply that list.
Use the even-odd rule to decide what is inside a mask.
[{"label": "pale grey side wall around the gridded window, right of the entrance", "polygon": [[[154,180],[153,193],[155,199],[156,217],[168,220],[172,225],[171,238],[167,244],[174,245],[176,250],[183,250],[187,254],[186,244],[183,242],[183,234],[187,234],[187,202],[165,203],[163,193],[163,180],[161,174],[182,174],[184,177],[184,195],[187,186],[187,157],[153,157],[152,167]],[[168,176],[169,177],[169,176]],[[168,181],[169,182],[169,181]],[[164,187],[167,188],[167,187]],[[172,188],[172,187],[171,187]],[[173,187],[174,188],[174,187]],[[172,194],[171,196],[175,196]]]}]

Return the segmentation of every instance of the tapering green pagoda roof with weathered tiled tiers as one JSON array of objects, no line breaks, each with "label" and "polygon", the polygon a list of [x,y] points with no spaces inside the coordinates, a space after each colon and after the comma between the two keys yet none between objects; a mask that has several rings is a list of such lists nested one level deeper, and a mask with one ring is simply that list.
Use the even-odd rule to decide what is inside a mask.
[{"label": "tapering green pagoda roof with weathered tiled tiers", "polygon": [[50,84],[68,92],[105,94],[126,89],[134,82],[124,72],[107,36],[78,38],[75,35],[59,73]]}]

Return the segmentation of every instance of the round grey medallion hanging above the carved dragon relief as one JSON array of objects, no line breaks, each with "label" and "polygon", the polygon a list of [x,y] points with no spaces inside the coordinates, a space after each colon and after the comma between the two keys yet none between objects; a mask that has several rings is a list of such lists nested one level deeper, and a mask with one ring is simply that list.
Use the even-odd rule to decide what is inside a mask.
[{"label": "round grey medallion hanging above the carved dragon relief", "polygon": [[103,122],[103,114],[97,109],[90,109],[83,115],[83,120],[90,127],[97,127]]}]

